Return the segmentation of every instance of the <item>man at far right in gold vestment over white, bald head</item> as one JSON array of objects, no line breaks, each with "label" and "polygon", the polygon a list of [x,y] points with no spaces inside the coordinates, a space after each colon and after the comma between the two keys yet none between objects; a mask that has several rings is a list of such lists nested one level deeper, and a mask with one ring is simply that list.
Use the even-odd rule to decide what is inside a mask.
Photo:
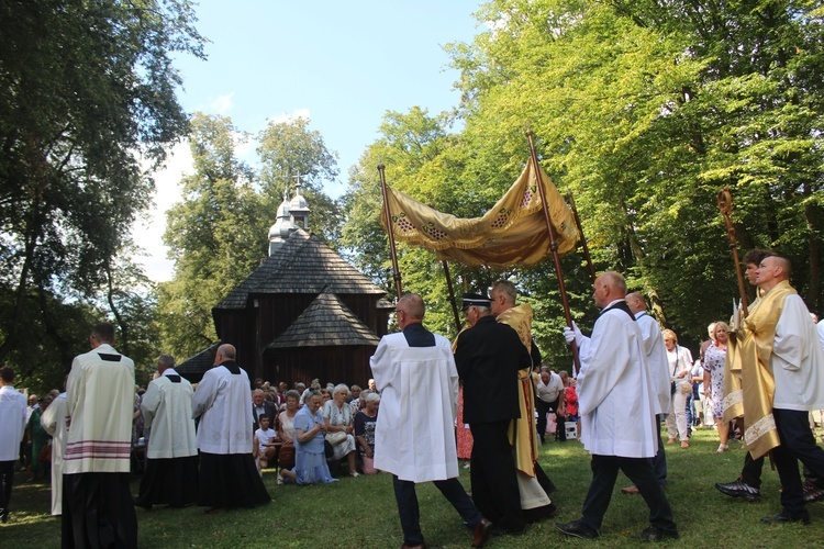
[{"label": "man at far right in gold vestment over white, bald head", "polygon": [[[781,512],[762,518],[768,523],[810,520],[799,460],[824,477],[824,450],[809,423],[809,411],[824,406],[824,351],[806,305],[789,283],[790,269],[778,255],[761,260],[756,283],[764,295],[744,321],[741,346],[743,357],[757,357],[743,362],[745,441],[756,459],[772,450],[781,480]],[[775,429],[765,428],[770,424]]]}]

